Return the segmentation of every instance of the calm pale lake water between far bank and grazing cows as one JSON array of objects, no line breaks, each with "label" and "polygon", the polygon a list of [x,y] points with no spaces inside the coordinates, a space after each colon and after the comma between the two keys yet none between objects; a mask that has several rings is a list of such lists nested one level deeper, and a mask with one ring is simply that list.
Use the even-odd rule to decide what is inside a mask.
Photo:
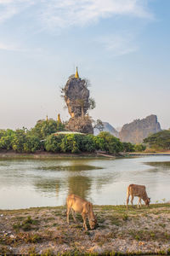
[{"label": "calm pale lake water between far bank and grazing cows", "polygon": [[170,156],[0,160],[0,209],[61,206],[69,193],[124,204],[130,183],[145,184],[152,203],[170,201]]}]

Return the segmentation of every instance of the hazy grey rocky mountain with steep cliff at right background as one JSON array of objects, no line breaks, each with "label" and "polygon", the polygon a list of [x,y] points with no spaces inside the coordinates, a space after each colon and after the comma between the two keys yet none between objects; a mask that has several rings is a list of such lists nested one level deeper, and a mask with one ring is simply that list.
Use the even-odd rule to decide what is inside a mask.
[{"label": "hazy grey rocky mountain with steep cliff at right background", "polygon": [[130,124],[123,125],[119,135],[122,142],[142,143],[150,133],[158,131],[161,131],[161,125],[157,122],[156,115],[151,114],[145,119],[137,119]]}]

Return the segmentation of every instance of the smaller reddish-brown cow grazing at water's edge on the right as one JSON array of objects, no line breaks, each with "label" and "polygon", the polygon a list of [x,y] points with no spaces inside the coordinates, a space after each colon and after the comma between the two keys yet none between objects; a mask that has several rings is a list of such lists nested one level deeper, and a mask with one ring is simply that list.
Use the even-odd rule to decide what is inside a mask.
[{"label": "smaller reddish-brown cow grazing at water's edge on the right", "polygon": [[133,206],[133,198],[134,198],[134,196],[138,196],[139,197],[138,208],[139,208],[139,204],[140,204],[140,207],[142,207],[141,199],[144,201],[145,205],[147,207],[149,207],[149,205],[150,205],[150,198],[148,197],[148,195],[146,193],[145,186],[130,184],[127,187],[127,206],[128,206],[128,201],[129,201],[129,196],[130,195],[131,195],[131,204],[132,204],[132,206]]}]

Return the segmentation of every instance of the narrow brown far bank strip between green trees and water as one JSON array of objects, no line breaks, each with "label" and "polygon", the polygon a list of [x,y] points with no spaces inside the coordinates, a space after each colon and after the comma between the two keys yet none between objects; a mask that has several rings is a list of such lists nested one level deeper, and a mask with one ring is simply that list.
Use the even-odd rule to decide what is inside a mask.
[{"label": "narrow brown far bank strip between green trees and water", "polygon": [[100,152],[94,153],[49,153],[47,151],[40,151],[37,153],[15,153],[14,151],[3,151],[0,152],[0,160],[1,159],[39,159],[39,160],[53,160],[53,159],[63,159],[63,158],[116,158],[123,157],[121,154],[105,154]]}]

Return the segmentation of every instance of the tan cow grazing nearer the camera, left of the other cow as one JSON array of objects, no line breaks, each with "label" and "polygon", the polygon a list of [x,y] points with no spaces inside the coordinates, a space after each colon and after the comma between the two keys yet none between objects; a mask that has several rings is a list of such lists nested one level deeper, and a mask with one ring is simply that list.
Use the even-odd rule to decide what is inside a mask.
[{"label": "tan cow grazing nearer the camera, left of the other cow", "polygon": [[91,202],[86,201],[79,197],[78,195],[68,195],[67,200],[67,223],[69,224],[69,214],[72,211],[72,217],[74,218],[74,221],[76,222],[75,218],[75,212],[79,212],[82,214],[82,219],[83,219],[83,227],[85,230],[88,230],[87,225],[86,225],[86,218],[88,218],[88,222],[90,225],[91,230],[94,230],[95,225],[97,224],[97,219],[94,216],[94,211],[93,211],[93,205]]}]

